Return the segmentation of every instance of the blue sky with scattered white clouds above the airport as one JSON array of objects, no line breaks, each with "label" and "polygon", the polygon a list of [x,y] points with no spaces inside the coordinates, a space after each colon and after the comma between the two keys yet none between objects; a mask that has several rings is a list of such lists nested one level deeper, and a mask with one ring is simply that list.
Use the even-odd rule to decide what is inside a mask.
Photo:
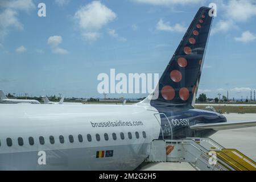
[{"label": "blue sky with scattered white clouds above the airport", "polygon": [[[46,17],[38,4],[46,3]],[[256,88],[253,1],[0,2],[0,88],[42,96],[103,97],[100,73],[159,73],[200,6],[217,5],[199,93],[250,98]],[[108,94],[108,97],[146,94]]]}]

